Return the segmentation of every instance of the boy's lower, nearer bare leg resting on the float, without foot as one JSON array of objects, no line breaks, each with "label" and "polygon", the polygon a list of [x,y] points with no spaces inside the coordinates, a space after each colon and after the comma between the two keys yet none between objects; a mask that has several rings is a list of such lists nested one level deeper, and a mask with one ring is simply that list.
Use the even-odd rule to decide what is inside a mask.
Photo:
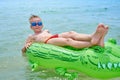
[{"label": "boy's lower, nearer bare leg resting on the float, without foot", "polygon": [[57,45],[57,46],[72,46],[74,48],[85,48],[85,47],[92,46],[90,42],[75,41],[70,38],[53,38],[53,39],[50,39],[47,43]]}]

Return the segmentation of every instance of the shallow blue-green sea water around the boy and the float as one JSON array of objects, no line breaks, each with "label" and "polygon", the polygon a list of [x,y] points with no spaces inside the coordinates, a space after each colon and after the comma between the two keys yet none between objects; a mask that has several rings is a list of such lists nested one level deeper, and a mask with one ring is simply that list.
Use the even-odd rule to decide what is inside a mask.
[{"label": "shallow blue-green sea water around the boy and the float", "polygon": [[[65,80],[52,70],[31,72],[22,57],[24,41],[33,33],[28,22],[31,14],[39,15],[44,29],[53,34],[71,30],[89,34],[98,23],[105,23],[110,27],[105,41],[115,38],[120,44],[119,0],[1,0],[0,5],[0,80]],[[86,79],[99,80],[83,74],[76,80]]]}]

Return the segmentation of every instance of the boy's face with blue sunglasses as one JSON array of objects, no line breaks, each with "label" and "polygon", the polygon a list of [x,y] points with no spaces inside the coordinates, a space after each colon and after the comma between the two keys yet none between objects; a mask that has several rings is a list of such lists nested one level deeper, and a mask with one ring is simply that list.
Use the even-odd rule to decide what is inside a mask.
[{"label": "boy's face with blue sunglasses", "polygon": [[40,32],[43,28],[42,20],[40,18],[32,18],[30,20],[31,29],[37,33]]}]

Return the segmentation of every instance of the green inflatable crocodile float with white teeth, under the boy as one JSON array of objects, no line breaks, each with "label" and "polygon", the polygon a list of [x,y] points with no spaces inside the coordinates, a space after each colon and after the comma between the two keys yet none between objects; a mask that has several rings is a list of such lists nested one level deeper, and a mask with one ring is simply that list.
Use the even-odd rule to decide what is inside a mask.
[{"label": "green inflatable crocodile float with white teeth, under the boy", "polygon": [[120,46],[115,39],[109,39],[105,47],[74,49],[50,44],[33,43],[26,51],[32,70],[44,67],[56,69],[60,75],[68,74],[66,69],[75,70],[94,78],[120,77]]}]

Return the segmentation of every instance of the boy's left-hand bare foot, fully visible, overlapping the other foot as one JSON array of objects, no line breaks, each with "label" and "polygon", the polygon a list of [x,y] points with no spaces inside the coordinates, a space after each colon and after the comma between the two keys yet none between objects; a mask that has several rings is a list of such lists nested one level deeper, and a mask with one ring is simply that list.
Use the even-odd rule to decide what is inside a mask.
[{"label": "boy's left-hand bare foot, fully visible, overlapping the other foot", "polygon": [[92,36],[91,43],[92,45],[97,45],[100,42],[101,37],[103,36],[105,32],[105,26],[103,24],[99,24],[96,32]]}]

